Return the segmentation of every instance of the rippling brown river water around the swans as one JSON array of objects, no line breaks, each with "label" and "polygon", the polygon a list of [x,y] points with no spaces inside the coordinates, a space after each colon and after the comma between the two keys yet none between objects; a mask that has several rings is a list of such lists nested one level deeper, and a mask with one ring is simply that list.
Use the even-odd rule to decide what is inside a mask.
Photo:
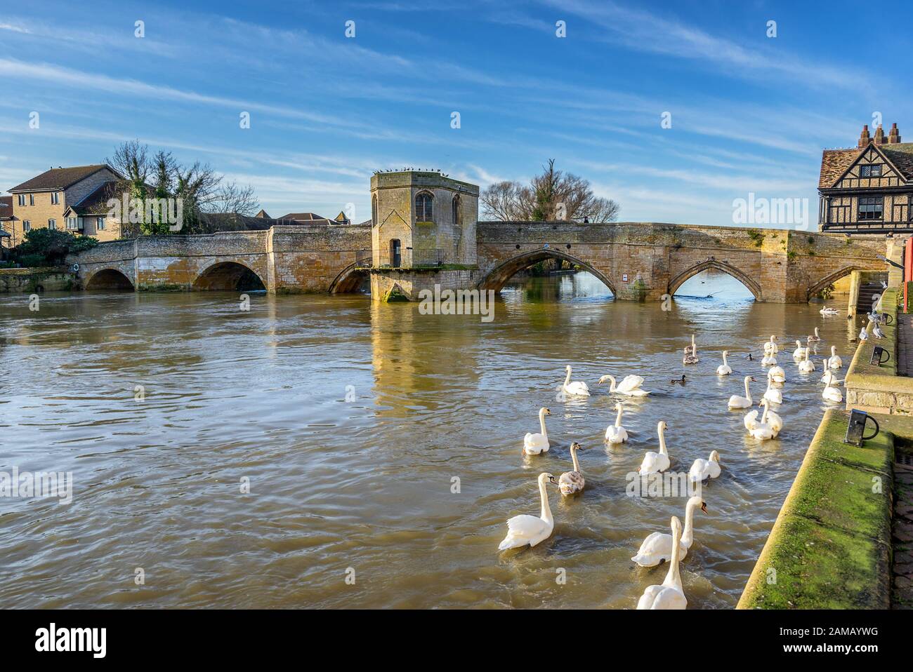
[{"label": "rippling brown river water around the swans", "polygon": [[[670,311],[614,301],[589,274],[531,278],[488,324],[361,295],[250,302],[47,294],[32,312],[27,295],[0,295],[0,471],[73,474],[69,504],[0,497],[6,606],[633,608],[666,565],[630,557],[684,521],[683,498],[625,494],[664,419],[672,470],[720,452],[682,580],[689,608],[732,607],[825,408],[820,359],[836,345],[848,364],[857,330],[707,273]],[[792,341],[814,326],[803,377]],[[700,363],[684,367],[692,333]],[[761,398],[747,352],[771,334],[784,428],[761,443],[727,399],[749,374]],[[723,348],[735,373],[719,378]],[[592,397],[555,398],[566,364]],[[624,401],[631,439],[612,448],[617,398],[595,385],[607,373],[653,391]],[[526,457],[542,406],[552,449]],[[551,538],[498,553],[510,516],[538,514],[540,471],[572,469],[572,440],[586,491],[551,487]]]}]

